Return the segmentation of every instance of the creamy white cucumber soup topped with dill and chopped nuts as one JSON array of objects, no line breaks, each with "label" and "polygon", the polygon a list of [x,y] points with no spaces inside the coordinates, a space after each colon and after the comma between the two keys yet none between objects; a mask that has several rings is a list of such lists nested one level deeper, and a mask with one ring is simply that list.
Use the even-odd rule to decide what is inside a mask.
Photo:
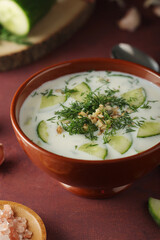
[{"label": "creamy white cucumber soup topped with dill and chopped nuts", "polygon": [[34,143],[65,157],[134,155],[160,142],[160,89],[121,72],[62,76],[28,96],[20,127]]}]

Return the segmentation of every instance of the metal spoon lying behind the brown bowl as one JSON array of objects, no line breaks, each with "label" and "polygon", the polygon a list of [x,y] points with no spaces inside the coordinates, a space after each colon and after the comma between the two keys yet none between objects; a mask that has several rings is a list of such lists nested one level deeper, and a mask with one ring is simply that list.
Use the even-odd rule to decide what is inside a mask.
[{"label": "metal spoon lying behind the brown bowl", "polygon": [[138,63],[156,72],[160,72],[160,67],[153,58],[127,43],[115,45],[111,50],[111,57]]}]

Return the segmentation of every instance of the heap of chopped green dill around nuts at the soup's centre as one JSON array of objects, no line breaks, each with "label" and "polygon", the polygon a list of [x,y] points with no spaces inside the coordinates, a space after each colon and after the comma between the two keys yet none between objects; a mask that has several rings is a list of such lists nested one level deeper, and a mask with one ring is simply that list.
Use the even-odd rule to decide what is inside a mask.
[{"label": "heap of chopped green dill around nuts at the soup's centre", "polygon": [[[61,104],[63,109],[56,111],[55,114],[58,116],[58,119],[61,120],[60,124],[63,129],[69,132],[70,135],[83,134],[90,140],[96,140],[98,138],[98,126],[94,124],[88,116],[94,114],[100,105],[102,108],[106,106],[106,104],[111,108],[116,106],[120,113],[118,117],[113,118],[112,112],[106,110],[105,107],[101,110],[102,116],[97,116],[97,119],[99,119],[102,124],[106,124],[106,129],[103,132],[103,141],[107,143],[110,140],[110,136],[115,135],[118,130],[125,129],[126,132],[131,132],[144,122],[144,119],[131,117],[131,114],[126,111],[127,108],[131,107],[124,98],[116,96],[117,92],[119,92],[119,90],[109,88],[105,90],[105,94],[91,91],[87,94],[83,102],[71,102],[69,107]],[[132,108],[132,112],[134,111],[136,111],[136,109]],[[81,112],[86,115],[83,116]],[[65,120],[67,120],[67,123],[65,123]]]}]

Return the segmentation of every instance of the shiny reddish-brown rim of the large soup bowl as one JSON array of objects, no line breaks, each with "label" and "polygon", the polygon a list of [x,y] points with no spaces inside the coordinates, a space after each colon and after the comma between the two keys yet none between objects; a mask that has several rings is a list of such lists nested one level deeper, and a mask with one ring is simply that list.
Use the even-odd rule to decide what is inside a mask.
[{"label": "shiny reddish-brown rim of the large soup bowl", "polygon": [[[50,65],[48,67],[42,68],[41,70],[37,71],[36,73],[32,74],[29,78],[27,78],[17,89],[17,91],[15,92],[12,101],[11,101],[11,106],[10,106],[10,118],[11,118],[11,122],[12,122],[12,126],[14,128],[14,130],[16,130],[16,132],[18,132],[18,134],[20,135],[20,137],[23,139],[23,142],[26,142],[28,145],[30,145],[30,147],[40,151],[41,153],[44,153],[46,156],[50,156],[54,159],[54,156],[61,158],[61,161],[65,161],[65,162],[76,162],[76,163],[83,163],[83,164],[104,164],[104,163],[116,163],[116,162],[125,162],[125,161],[129,161],[129,160],[134,160],[137,159],[137,157],[144,157],[146,156],[149,152],[152,153],[153,151],[157,150],[160,148],[160,142],[157,143],[156,145],[152,146],[149,149],[146,149],[142,152],[139,152],[137,154],[134,155],[130,155],[127,157],[122,157],[122,158],[113,158],[113,159],[100,159],[100,160],[86,160],[86,159],[76,159],[76,158],[71,158],[71,157],[65,157],[50,151],[47,151],[44,148],[41,148],[40,146],[38,146],[37,144],[35,144],[34,142],[32,142],[22,131],[22,129],[20,128],[17,120],[16,120],[16,116],[15,116],[15,109],[16,109],[16,103],[18,100],[18,97],[20,96],[21,92],[23,91],[23,89],[27,86],[27,84],[32,81],[32,79],[34,79],[36,76],[40,75],[41,73],[45,73],[50,69],[53,68],[59,68],[65,65],[70,65],[70,64],[74,64],[74,63],[81,63],[81,62],[115,62],[116,64],[124,64],[125,66],[133,66],[134,68],[137,68],[141,71],[144,72],[148,72],[156,77],[160,78],[160,74],[147,68],[144,67],[140,64],[137,63],[133,63],[133,62],[129,62],[129,61],[125,61],[125,60],[121,60],[121,59],[112,59],[112,58],[78,58],[78,59],[73,59],[73,60],[67,60],[67,61],[63,61],[63,62],[59,62],[53,65]],[[136,75],[136,74],[135,74]],[[160,79],[159,79],[160,80]],[[148,80],[149,81],[149,80]],[[154,83],[155,84],[155,83]],[[155,84],[156,85],[156,84]],[[160,86],[159,86],[160,87]]]}]

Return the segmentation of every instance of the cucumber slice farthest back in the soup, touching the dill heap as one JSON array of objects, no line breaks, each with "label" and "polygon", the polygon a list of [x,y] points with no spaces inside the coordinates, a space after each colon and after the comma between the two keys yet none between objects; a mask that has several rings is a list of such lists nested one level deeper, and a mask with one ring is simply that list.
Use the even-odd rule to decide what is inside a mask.
[{"label": "cucumber slice farthest back in the soup, touching the dill heap", "polygon": [[91,91],[87,83],[82,82],[73,88],[77,92],[71,93],[71,97],[75,100],[82,102],[86,95]]}]

